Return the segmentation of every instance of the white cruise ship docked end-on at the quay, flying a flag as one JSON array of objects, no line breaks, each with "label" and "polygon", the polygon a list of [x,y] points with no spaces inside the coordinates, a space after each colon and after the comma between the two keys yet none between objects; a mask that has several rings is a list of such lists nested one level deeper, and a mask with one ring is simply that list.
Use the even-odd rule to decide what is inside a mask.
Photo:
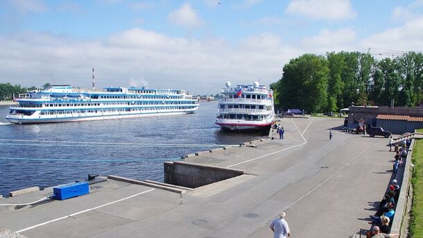
[{"label": "white cruise ship docked end-on at the quay, flying a flag", "polygon": [[226,82],[218,101],[216,124],[225,130],[268,130],[275,118],[273,91],[265,85],[232,87]]}]

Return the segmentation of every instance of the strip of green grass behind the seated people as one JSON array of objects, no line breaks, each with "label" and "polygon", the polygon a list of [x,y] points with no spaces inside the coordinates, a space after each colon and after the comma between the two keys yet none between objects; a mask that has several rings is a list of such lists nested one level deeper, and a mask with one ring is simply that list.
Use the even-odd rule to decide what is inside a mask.
[{"label": "strip of green grass behind the seated people", "polygon": [[[423,129],[417,130],[423,133]],[[411,207],[410,237],[423,237],[423,139],[417,139],[413,148],[413,205]]]}]

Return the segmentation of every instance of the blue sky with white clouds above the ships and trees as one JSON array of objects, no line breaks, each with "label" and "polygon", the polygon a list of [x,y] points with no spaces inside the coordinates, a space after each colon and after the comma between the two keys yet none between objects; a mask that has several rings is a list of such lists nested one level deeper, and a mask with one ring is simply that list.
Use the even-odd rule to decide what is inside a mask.
[{"label": "blue sky with white clouds above the ships and trees", "polygon": [[423,0],[0,0],[0,83],[216,94],[304,53],[423,50]]}]

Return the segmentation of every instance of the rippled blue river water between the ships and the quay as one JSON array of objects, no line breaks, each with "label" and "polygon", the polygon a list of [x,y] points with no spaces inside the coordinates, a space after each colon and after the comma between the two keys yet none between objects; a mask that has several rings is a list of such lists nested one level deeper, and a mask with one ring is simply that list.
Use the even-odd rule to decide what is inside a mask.
[{"label": "rippled blue river water between the ships and the quay", "polygon": [[9,124],[8,106],[0,106],[0,194],[88,173],[162,181],[164,161],[262,137],[221,131],[216,106],[202,103],[194,114],[170,117],[31,125]]}]

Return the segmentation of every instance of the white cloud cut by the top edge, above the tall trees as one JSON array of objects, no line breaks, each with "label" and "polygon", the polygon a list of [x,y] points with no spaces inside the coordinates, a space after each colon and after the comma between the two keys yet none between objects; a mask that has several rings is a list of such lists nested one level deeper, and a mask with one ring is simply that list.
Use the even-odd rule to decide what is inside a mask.
[{"label": "white cloud cut by the top edge, above the tall trees", "polygon": [[340,20],[356,17],[349,0],[292,0],[286,12],[313,19]]}]

